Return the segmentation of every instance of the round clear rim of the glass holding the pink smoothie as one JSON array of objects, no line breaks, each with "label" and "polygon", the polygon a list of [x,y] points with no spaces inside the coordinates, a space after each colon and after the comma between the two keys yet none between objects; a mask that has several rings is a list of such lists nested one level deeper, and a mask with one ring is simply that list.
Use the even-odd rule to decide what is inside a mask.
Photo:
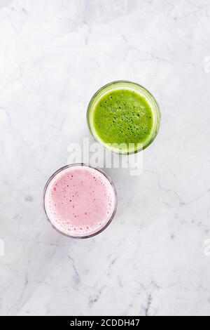
[{"label": "round clear rim of the glass holding the pink smoothie", "polygon": [[[47,213],[46,208],[45,208],[45,196],[46,196],[46,192],[48,190],[48,186],[50,185],[52,179],[55,178],[57,176],[57,174],[61,173],[65,169],[69,169],[69,168],[75,167],[75,166],[89,167],[90,169],[94,169],[95,171],[99,171],[100,173],[102,173],[102,175],[107,180],[109,180],[109,183],[111,184],[111,187],[113,189],[113,195],[115,197],[114,209],[113,209],[113,213],[111,213],[111,216],[109,218],[109,221],[106,223],[106,225],[104,225],[104,227],[102,227],[101,229],[97,230],[97,232],[94,232],[94,233],[92,233],[90,235],[73,236],[73,235],[68,235],[68,234],[62,232],[61,230],[57,229],[57,227],[55,227],[55,225],[52,224],[52,221],[50,220],[50,217],[48,216],[48,213]],[[87,165],[87,164],[84,164],[84,163],[68,164],[68,165],[62,166],[60,169],[58,169],[57,171],[55,171],[55,173],[53,173],[52,176],[50,176],[50,178],[48,179],[48,181],[45,183],[45,187],[44,187],[44,190],[43,190],[42,206],[43,206],[43,212],[45,214],[46,220],[48,221],[48,223],[50,223],[51,227],[54,230],[56,230],[59,234],[65,236],[65,237],[71,238],[71,239],[87,239],[87,238],[91,238],[91,237],[94,237],[94,236],[99,235],[101,232],[103,232],[104,230],[106,230],[107,227],[109,227],[109,225],[111,224],[113,218],[116,215],[116,211],[117,211],[117,208],[118,208],[118,194],[117,194],[117,191],[116,191],[116,187],[113,184],[113,180],[111,180],[111,178],[104,171],[102,171],[102,169],[98,169],[98,168],[95,168],[93,166],[90,166],[90,165]]]}]

